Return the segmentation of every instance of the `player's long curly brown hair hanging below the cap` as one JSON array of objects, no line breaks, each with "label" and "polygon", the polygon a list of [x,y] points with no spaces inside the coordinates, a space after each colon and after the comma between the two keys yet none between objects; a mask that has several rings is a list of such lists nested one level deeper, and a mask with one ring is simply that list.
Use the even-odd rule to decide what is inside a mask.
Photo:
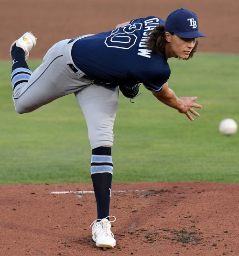
[{"label": "player's long curly brown hair hanging below the cap", "polygon": [[[174,33],[171,32],[171,34]],[[152,33],[149,36],[148,41],[146,41],[146,45],[150,50],[152,50],[152,52],[161,53],[163,56],[165,56],[166,39],[163,25],[158,25],[156,28],[153,29]],[[190,59],[194,56],[194,53],[196,52],[197,49],[197,45],[198,41],[196,41],[196,44],[187,59]]]}]

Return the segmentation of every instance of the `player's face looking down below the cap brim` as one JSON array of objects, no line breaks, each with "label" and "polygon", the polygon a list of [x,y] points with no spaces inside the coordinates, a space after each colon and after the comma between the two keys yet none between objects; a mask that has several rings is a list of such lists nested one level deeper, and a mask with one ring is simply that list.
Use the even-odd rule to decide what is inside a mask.
[{"label": "player's face looking down below the cap brim", "polygon": [[169,44],[165,45],[167,58],[180,57],[187,59],[196,44],[196,38],[182,38],[168,33],[166,40]]}]

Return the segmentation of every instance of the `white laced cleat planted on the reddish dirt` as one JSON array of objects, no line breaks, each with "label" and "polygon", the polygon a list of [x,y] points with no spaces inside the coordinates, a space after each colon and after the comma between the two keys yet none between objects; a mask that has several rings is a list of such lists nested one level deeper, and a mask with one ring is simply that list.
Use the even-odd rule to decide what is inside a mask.
[{"label": "white laced cleat planted on the reddish dirt", "polygon": [[[108,217],[113,217],[114,221],[109,221]],[[98,219],[91,223],[92,226],[92,239],[96,242],[96,246],[104,248],[112,248],[116,245],[114,235],[111,232],[111,222],[115,222],[115,216],[108,216],[105,219]],[[90,227],[91,227],[90,225]]]}]

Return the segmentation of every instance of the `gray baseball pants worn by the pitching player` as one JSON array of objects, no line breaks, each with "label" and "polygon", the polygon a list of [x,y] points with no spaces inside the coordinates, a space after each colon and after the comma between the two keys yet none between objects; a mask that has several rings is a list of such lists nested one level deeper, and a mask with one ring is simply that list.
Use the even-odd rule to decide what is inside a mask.
[{"label": "gray baseball pants worn by the pitching player", "polygon": [[15,110],[31,112],[65,95],[75,93],[76,100],[87,122],[91,148],[112,146],[113,125],[119,102],[118,88],[110,88],[82,78],[79,70],[74,73],[67,64],[73,64],[70,39],[63,40],[49,49],[42,64],[33,71],[29,81],[13,92]]}]

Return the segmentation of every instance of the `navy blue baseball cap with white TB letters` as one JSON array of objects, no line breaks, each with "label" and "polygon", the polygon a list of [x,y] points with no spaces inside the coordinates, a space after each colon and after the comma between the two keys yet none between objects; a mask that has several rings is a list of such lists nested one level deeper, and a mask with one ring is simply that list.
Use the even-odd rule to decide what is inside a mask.
[{"label": "navy blue baseball cap with white TB letters", "polygon": [[164,30],[174,32],[174,34],[183,38],[206,37],[205,34],[198,31],[196,14],[183,8],[177,9],[168,15]]}]

